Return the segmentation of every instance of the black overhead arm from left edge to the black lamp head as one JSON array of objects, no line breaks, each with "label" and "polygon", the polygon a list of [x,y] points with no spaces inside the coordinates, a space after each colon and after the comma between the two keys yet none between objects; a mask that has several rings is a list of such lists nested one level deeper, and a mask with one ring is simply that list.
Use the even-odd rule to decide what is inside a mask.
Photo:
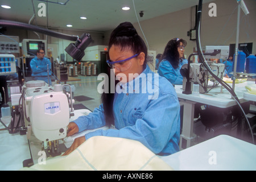
[{"label": "black overhead arm from left edge to the black lamp head", "polygon": [[10,20],[0,20],[0,26],[6,26],[6,27],[15,27],[15,28],[23,28],[26,30],[31,30],[31,31],[36,31],[42,34],[46,34],[49,36],[53,36],[56,38],[61,38],[65,40],[72,40],[76,41],[78,39],[78,36],[75,35],[67,35],[67,34],[62,34],[59,32],[51,31],[46,28],[41,28],[38,26],[34,26],[32,24],[27,24],[27,23],[21,23],[21,22],[15,22],[15,21],[10,21]]}]

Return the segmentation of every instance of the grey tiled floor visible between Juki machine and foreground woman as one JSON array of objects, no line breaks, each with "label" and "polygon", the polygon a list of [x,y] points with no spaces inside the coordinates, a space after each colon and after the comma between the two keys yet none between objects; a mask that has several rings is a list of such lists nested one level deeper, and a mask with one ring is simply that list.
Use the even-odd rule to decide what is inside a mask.
[{"label": "grey tiled floor visible between Juki machine and foreground woman", "polygon": [[93,98],[93,100],[80,102],[75,100],[75,104],[83,104],[93,111],[95,107],[101,104],[101,94],[97,91],[97,86],[101,80],[97,80],[97,76],[78,76],[76,78],[81,79],[81,81],[67,82],[67,84],[75,86],[74,96],[86,96]]}]

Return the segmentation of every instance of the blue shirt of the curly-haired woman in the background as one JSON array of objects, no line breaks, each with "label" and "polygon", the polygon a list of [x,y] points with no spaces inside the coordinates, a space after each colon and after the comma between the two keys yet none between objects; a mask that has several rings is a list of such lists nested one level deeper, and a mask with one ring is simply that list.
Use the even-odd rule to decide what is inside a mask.
[{"label": "blue shirt of the curly-haired woman in the background", "polygon": [[183,64],[187,64],[188,60],[183,59],[180,61],[178,67],[174,69],[168,60],[163,60],[158,67],[158,73],[160,76],[166,77],[168,81],[175,85],[182,85],[183,76],[180,74],[180,68]]}]

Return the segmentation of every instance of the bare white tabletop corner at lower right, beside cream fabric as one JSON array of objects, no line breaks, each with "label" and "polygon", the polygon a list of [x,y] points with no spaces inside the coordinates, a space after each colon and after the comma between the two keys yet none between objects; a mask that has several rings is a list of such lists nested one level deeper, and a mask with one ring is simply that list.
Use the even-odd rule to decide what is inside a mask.
[{"label": "bare white tabletop corner at lower right, beside cream fabric", "polygon": [[177,171],[255,171],[256,145],[219,135],[161,158]]}]

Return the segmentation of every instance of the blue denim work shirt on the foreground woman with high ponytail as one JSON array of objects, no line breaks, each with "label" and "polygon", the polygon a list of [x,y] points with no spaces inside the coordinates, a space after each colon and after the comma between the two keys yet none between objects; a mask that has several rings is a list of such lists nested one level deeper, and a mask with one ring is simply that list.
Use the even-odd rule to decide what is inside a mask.
[{"label": "blue denim work shirt on the foreground woman with high ponytail", "polygon": [[[143,87],[145,81],[146,89]],[[133,139],[158,155],[179,151],[180,105],[170,82],[147,66],[133,81],[119,82],[116,88],[113,103],[115,129],[96,130],[85,134],[85,139],[94,136]],[[136,88],[139,88],[139,93]],[[79,132],[105,126],[103,106],[73,122],[79,127]]]}]

